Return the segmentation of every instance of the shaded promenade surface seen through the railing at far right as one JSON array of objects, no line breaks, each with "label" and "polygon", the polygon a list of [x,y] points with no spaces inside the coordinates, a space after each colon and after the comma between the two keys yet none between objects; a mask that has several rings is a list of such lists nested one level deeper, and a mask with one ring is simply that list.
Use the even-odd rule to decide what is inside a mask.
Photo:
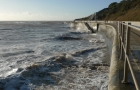
[{"label": "shaded promenade surface seen through the railing at far right", "polygon": [[[131,23],[131,22],[130,22]],[[129,60],[132,65],[132,69],[134,71],[135,77],[137,84],[140,88],[140,28],[131,25],[130,26],[130,47],[129,47]],[[124,27],[125,30],[126,27]],[[125,31],[124,31],[125,32]],[[126,37],[126,34],[124,35]],[[126,38],[125,38],[126,39]],[[123,62],[124,58],[122,58]],[[128,68],[129,69],[129,68]],[[123,80],[123,70],[120,70],[120,80]],[[121,83],[121,90],[139,90],[138,88],[135,87],[136,82],[132,78],[132,74],[130,73],[130,69],[128,71],[128,79],[126,84]]]}]

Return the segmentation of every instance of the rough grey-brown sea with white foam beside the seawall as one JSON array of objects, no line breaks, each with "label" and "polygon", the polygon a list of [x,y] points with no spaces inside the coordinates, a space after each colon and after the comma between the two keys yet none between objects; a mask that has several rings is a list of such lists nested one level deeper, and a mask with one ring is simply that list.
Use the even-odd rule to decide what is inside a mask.
[{"label": "rough grey-brown sea with white foam beside the seawall", "polygon": [[0,22],[0,90],[107,90],[99,33],[66,21]]}]

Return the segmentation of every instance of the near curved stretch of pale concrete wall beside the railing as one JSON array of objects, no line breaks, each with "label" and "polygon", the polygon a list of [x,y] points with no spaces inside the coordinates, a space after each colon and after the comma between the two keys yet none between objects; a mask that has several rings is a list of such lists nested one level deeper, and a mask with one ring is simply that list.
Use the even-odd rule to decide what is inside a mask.
[{"label": "near curved stretch of pale concrete wall beside the railing", "polygon": [[110,40],[111,46],[111,63],[109,73],[108,90],[120,90],[119,86],[119,62],[118,62],[118,35],[114,27],[109,25],[100,25],[99,32],[102,32]]}]

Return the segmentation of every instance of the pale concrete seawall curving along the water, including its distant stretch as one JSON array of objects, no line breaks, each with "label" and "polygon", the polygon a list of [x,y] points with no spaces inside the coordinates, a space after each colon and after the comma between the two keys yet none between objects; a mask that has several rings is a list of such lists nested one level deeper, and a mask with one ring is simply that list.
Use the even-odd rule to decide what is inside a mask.
[{"label": "pale concrete seawall curving along the water, including its distant stretch", "polygon": [[[86,28],[86,26],[81,22],[74,23],[76,26]],[[88,22],[91,28],[96,28],[97,23]],[[108,45],[109,53],[111,55],[110,62],[110,73],[109,73],[109,83],[108,90],[120,90],[119,86],[119,59],[118,59],[118,35],[117,28],[107,25],[100,24],[98,32],[105,38],[105,43]]]}]

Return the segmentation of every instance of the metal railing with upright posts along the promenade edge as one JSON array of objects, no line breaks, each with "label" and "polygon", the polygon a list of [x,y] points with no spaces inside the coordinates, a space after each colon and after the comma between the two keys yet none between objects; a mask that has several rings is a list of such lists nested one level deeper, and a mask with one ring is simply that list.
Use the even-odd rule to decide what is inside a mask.
[{"label": "metal railing with upright posts along the promenade edge", "polygon": [[118,22],[118,36],[119,36],[119,49],[121,51],[120,53],[120,60],[124,61],[124,76],[122,83],[126,84],[128,83],[128,69],[130,69],[136,90],[140,90],[138,81],[136,79],[133,67],[130,62],[129,54],[130,54],[130,32],[132,29],[136,29],[137,31],[140,31],[140,28],[136,28],[131,25],[131,23],[124,23],[124,22]]}]

